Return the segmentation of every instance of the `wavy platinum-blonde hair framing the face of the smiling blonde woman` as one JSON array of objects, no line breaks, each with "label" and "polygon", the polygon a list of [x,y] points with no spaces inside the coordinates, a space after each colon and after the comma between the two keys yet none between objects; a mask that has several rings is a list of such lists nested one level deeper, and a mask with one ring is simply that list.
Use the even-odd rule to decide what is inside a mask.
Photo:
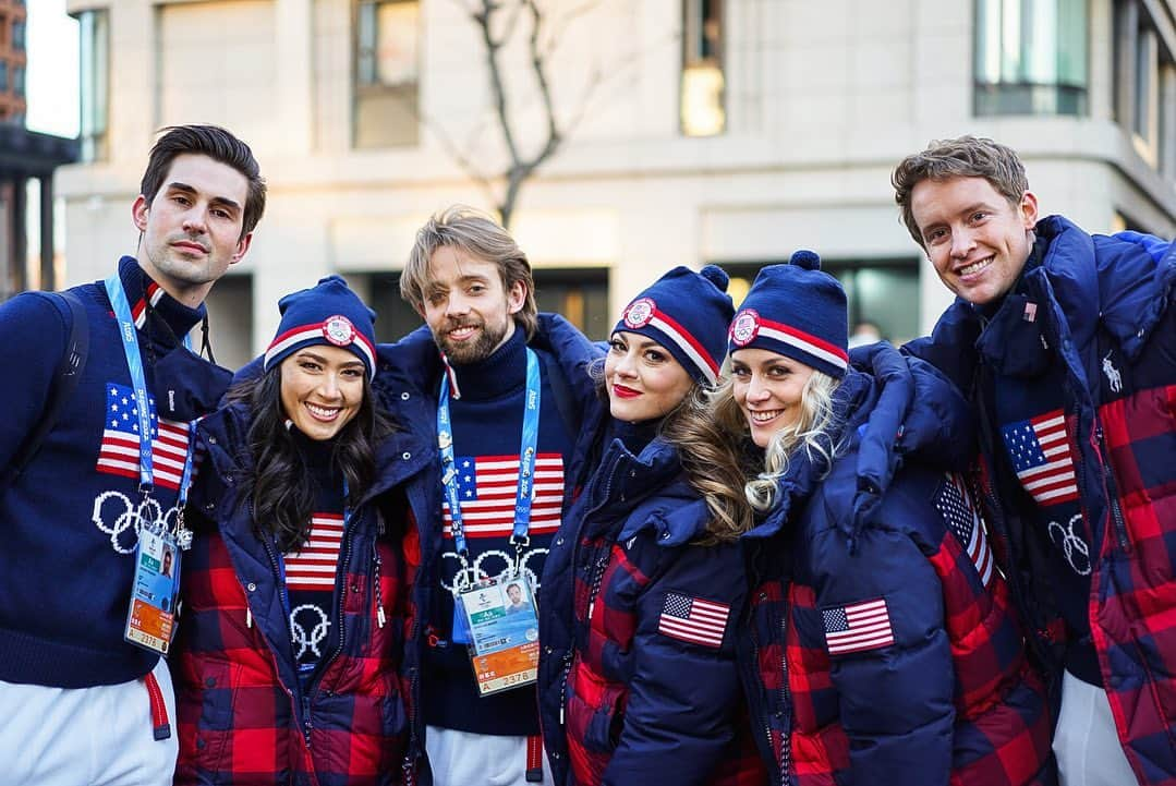
[{"label": "wavy platinum-blonde hair framing the face of the smiling blonde woman", "polygon": [[[754,509],[764,513],[776,506],[780,479],[788,473],[791,457],[799,451],[804,451],[809,460],[820,457],[826,465],[831,464],[838,448],[831,435],[837,425],[833,393],[838,385],[840,380],[813,369],[801,391],[800,417],[773,434],[763,452],[763,468],[755,478],[741,482]],[[720,431],[739,434],[741,439],[748,435],[747,415],[735,401],[730,375],[710,394],[710,407]]]}]

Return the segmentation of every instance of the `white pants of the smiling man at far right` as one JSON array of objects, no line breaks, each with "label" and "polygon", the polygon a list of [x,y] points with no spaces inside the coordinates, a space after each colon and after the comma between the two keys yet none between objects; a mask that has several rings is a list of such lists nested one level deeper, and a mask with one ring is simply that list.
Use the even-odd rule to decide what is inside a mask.
[{"label": "white pants of the smiling man at far right", "polygon": [[1107,692],[1070,672],[1062,678],[1062,712],[1054,734],[1062,786],[1132,786],[1131,765],[1115,732]]}]

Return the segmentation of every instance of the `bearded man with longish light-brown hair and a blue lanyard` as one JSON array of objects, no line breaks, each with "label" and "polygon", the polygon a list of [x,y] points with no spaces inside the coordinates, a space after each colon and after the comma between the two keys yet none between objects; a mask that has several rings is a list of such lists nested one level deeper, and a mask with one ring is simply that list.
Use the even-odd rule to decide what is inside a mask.
[{"label": "bearded man with longish light-brown hair and a blue lanyard", "polygon": [[406,548],[406,782],[550,784],[534,685],[480,695],[454,595],[517,573],[536,587],[548,551],[564,545],[560,522],[601,421],[587,374],[601,353],[561,317],[537,313],[526,254],[469,208],[421,227],[400,280],[426,327],[380,347],[375,382],[407,422],[437,425],[439,454],[436,515],[416,522],[408,542],[419,549]]}]

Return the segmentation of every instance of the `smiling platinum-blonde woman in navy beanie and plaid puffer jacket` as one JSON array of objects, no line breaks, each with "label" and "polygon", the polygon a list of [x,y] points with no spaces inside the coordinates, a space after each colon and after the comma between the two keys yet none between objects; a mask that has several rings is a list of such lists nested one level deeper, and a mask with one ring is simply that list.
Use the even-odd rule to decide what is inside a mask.
[{"label": "smiling platinum-blonde woman in navy beanie and plaid puffer jacket", "polygon": [[715,395],[762,452],[739,652],[771,782],[1051,784],[1044,690],[948,472],[974,455],[963,400],[888,347],[877,379],[850,367],[846,327],[816,254],[763,268]]}]

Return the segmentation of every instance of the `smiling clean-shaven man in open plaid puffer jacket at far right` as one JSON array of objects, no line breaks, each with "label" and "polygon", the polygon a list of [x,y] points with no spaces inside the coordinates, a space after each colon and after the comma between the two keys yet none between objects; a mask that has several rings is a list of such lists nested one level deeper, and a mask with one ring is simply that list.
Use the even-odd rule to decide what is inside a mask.
[{"label": "smiling clean-shaven man in open plaid puffer jacket at far right", "polygon": [[1040,219],[988,139],[933,142],[893,184],[958,295],[907,349],[975,405],[978,497],[1061,699],[1062,782],[1176,784],[1176,245]]}]

